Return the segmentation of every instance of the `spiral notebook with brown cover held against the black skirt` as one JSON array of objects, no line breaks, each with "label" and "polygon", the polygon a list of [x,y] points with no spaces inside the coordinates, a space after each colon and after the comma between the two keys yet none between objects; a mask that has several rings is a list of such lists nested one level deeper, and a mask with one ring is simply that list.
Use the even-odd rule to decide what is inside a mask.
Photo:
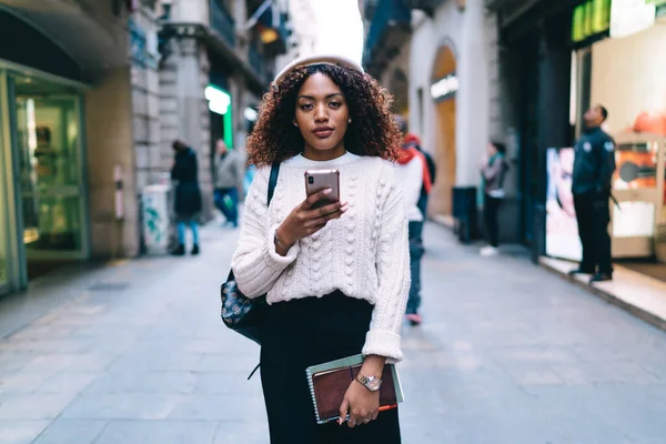
[{"label": "spiral notebook with brown cover held against the black skirt", "polygon": [[[340,405],[350,384],[363,365],[363,355],[331,361],[305,370],[317,424],[340,418]],[[384,365],[380,389],[380,412],[395,408],[403,402],[403,392],[395,365]],[[349,417],[345,418],[345,421]]]}]

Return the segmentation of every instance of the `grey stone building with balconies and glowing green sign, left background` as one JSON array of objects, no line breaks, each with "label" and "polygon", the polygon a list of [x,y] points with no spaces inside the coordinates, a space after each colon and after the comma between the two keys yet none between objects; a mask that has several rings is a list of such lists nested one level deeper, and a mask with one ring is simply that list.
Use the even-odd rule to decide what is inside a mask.
[{"label": "grey stone building with balconies and glowing green sign, left background", "polygon": [[[161,153],[174,139],[199,154],[204,216],[212,212],[216,140],[244,150],[256,105],[286,52],[285,2],[163,1]],[[168,159],[168,155],[165,155]]]}]

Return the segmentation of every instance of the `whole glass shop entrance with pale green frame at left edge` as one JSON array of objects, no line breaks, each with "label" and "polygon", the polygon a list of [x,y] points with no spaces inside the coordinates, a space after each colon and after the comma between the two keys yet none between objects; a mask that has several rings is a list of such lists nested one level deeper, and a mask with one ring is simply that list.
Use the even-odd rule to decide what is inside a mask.
[{"label": "whole glass shop entrance with pale green frame at left edge", "polygon": [[58,78],[0,71],[0,292],[88,256],[81,95]]}]

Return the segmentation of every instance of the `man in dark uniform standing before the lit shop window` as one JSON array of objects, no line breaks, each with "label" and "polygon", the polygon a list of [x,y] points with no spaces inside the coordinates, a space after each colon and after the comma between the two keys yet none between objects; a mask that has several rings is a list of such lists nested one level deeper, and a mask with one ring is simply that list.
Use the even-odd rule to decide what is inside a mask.
[{"label": "man in dark uniform standing before the lit shop window", "polygon": [[574,147],[572,192],[583,244],[583,260],[571,274],[592,274],[591,282],[613,279],[610,258],[610,180],[615,171],[615,141],[602,123],[608,111],[601,104],[585,112],[585,131]]}]

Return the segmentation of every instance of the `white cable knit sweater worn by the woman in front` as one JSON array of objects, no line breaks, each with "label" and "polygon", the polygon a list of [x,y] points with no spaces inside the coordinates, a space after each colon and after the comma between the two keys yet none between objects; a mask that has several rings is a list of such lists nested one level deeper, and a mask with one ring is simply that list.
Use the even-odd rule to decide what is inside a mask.
[{"label": "white cable knit sweater worn by the woman in front", "polygon": [[[319,233],[294,244],[286,256],[275,252],[275,230],[305,199],[304,173],[340,170],[341,200],[350,209]],[[342,291],[374,305],[363,354],[402,360],[400,333],[410,291],[407,222],[395,167],[379,158],[351,153],[326,162],[297,155],[280,169],[266,208],[270,168],[258,171],[245,203],[232,269],[248,297],[268,292],[268,302]]]}]

